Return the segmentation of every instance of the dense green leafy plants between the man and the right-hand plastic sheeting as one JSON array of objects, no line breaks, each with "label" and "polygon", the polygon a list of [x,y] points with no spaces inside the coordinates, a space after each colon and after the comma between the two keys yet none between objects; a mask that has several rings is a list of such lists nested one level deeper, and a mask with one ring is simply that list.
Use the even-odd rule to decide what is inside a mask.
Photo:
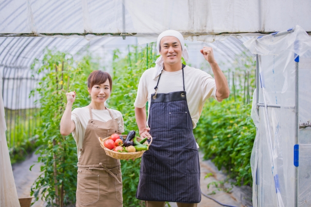
[{"label": "dense green leafy plants between the man and the right-hand plastic sheeting", "polygon": [[255,66],[253,57],[236,56],[234,70],[225,71],[230,97],[221,103],[208,99],[194,129],[204,158],[225,169],[236,185],[252,185],[250,156],[256,128],[250,116],[250,93],[255,89]]}]

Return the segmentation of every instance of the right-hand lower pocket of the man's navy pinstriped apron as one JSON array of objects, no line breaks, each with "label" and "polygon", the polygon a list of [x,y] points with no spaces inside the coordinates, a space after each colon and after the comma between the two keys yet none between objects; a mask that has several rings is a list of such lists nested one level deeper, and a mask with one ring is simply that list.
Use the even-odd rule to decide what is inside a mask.
[{"label": "right-hand lower pocket of the man's navy pinstriped apron", "polygon": [[200,173],[199,151],[197,149],[184,148],[185,174]]}]

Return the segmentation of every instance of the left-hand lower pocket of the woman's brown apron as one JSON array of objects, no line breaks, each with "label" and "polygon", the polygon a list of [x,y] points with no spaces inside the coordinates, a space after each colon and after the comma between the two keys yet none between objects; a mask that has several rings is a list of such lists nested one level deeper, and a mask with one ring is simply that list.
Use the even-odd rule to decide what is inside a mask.
[{"label": "left-hand lower pocket of the woman's brown apron", "polygon": [[99,200],[99,175],[78,175],[77,201],[87,206]]}]

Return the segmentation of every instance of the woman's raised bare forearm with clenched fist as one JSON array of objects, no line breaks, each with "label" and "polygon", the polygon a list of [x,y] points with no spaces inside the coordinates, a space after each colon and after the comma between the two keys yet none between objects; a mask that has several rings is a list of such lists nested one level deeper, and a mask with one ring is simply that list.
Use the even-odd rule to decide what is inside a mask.
[{"label": "woman's raised bare forearm with clenched fist", "polygon": [[62,116],[62,119],[60,120],[60,133],[63,136],[69,135],[75,129],[75,125],[71,121],[71,110],[72,104],[76,99],[76,92],[71,91],[70,93],[67,93],[66,96],[67,96],[67,105],[64,114]]}]

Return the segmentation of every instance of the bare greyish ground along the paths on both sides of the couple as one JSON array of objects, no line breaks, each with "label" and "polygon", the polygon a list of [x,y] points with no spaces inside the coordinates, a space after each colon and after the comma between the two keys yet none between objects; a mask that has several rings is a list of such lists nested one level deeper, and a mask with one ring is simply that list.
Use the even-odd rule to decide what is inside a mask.
[{"label": "bare greyish ground along the paths on both sides of the couple", "polygon": [[[32,154],[25,161],[12,166],[17,195],[19,198],[30,196],[31,186],[35,182],[35,179],[40,175],[40,164],[35,163],[37,158],[38,155]],[[30,171],[29,168],[33,164],[35,164],[35,166],[32,168],[32,171]],[[231,186],[229,183],[220,185],[219,181],[224,181],[226,175],[222,171],[219,171],[210,160],[203,160],[203,155],[201,153],[200,166],[201,191],[204,194],[226,205],[235,207],[252,206],[252,189],[250,187]],[[209,177],[205,178],[206,175],[209,175]],[[218,188],[215,187],[215,185],[210,185],[209,189],[207,189],[207,185],[212,182],[217,183]],[[230,190],[230,188],[232,189]],[[35,202],[35,199],[33,199],[33,202]],[[44,201],[39,200],[36,201],[32,207],[44,206],[46,206]],[[176,203],[170,203],[170,206],[177,207]],[[221,205],[202,195],[202,200],[201,203],[198,204],[198,207],[221,207]]]}]

